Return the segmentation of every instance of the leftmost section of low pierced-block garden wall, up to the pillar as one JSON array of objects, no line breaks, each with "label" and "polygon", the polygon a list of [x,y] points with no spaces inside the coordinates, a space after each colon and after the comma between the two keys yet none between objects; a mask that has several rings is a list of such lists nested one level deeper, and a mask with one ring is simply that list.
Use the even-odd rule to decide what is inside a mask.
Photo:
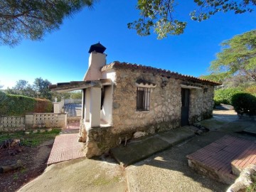
[{"label": "leftmost section of low pierced-block garden wall, up to the pillar", "polygon": [[0,117],[0,132],[16,132],[25,130],[25,117]]}]

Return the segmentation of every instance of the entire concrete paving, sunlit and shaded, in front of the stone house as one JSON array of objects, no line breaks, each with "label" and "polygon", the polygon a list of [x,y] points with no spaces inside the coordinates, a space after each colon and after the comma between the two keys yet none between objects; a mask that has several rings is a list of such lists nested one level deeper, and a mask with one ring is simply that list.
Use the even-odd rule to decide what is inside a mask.
[{"label": "entire concrete paving, sunlit and shaded, in front of the stone house", "polygon": [[125,169],[108,155],[66,161],[49,166],[44,174],[23,186],[20,191],[127,191],[127,188],[129,192],[226,191],[227,185],[197,174],[188,167],[186,155],[226,134],[255,140],[255,136],[238,132],[246,127],[256,129],[256,123],[250,119],[238,119],[236,115],[215,115],[215,118],[201,124],[210,132],[195,135],[186,142]]}]

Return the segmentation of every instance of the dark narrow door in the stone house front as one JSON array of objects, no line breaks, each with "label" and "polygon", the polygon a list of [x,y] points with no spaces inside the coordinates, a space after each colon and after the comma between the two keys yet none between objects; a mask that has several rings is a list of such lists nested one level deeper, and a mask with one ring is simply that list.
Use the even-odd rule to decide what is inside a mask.
[{"label": "dark narrow door in the stone house front", "polygon": [[181,88],[181,126],[188,125],[190,90]]}]

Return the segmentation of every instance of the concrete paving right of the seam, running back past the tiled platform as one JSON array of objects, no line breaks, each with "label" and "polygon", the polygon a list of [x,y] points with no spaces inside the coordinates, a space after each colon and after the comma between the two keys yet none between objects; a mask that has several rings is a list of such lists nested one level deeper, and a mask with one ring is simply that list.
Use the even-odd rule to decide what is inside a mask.
[{"label": "concrete paving right of the seam, running back past the tiled platform", "polygon": [[254,135],[238,133],[246,127],[256,129],[255,121],[227,115],[230,119],[225,122],[223,122],[225,116],[203,121],[203,126],[208,127],[210,132],[195,136],[188,142],[127,167],[129,191],[226,191],[228,185],[193,171],[188,166],[186,155],[215,142],[226,134],[255,141]]}]

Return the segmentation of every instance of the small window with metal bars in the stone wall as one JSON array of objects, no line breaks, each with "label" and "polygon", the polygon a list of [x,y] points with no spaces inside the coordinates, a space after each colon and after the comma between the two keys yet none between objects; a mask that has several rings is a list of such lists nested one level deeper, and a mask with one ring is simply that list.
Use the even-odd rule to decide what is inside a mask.
[{"label": "small window with metal bars in the stone wall", "polygon": [[137,87],[137,111],[149,111],[150,88]]}]

